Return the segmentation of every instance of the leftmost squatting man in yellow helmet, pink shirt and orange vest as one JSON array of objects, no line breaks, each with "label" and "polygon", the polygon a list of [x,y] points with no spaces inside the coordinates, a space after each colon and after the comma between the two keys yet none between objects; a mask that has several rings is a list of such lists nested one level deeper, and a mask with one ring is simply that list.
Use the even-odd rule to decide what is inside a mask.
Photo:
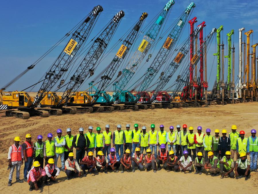
[{"label": "leftmost squatting man in yellow helmet, pink shirt and orange vest", "polygon": [[[37,191],[46,180],[46,172],[40,168],[38,161],[33,162],[33,168],[29,171],[27,178],[30,185],[29,191],[33,191],[33,189]],[[48,185],[48,183],[46,185]]]}]

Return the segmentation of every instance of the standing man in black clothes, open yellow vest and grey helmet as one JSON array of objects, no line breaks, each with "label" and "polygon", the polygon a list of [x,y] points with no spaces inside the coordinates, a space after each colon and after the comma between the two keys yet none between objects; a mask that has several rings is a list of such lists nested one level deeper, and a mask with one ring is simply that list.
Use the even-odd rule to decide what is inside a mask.
[{"label": "standing man in black clothes, open yellow vest and grey helmet", "polygon": [[76,160],[77,162],[80,162],[84,155],[85,151],[87,150],[87,147],[89,147],[89,138],[87,135],[83,134],[84,128],[79,128],[79,134],[74,136],[73,138],[73,147],[76,149]]}]

